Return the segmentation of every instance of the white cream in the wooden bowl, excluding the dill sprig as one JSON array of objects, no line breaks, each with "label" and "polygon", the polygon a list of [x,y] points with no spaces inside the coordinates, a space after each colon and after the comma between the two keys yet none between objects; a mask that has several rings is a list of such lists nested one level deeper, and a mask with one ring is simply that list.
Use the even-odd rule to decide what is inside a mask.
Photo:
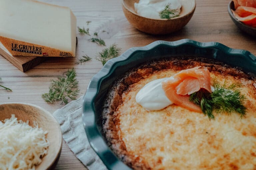
[{"label": "white cream in the wooden bowl, excluding the dill sprig", "polygon": [[181,3],[179,0],[140,0],[134,3],[135,12],[140,16],[152,19],[160,19],[160,13],[169,5],[170,10],[180,13]]}]

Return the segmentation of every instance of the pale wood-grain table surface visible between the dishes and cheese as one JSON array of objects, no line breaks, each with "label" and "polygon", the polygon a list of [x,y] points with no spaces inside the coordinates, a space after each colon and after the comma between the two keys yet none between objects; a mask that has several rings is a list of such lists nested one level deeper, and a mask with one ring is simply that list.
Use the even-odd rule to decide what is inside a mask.
[{"label": "pale wood-grain table surface visible between the dishes and cheese", "polygon": [[[134,46],[145,46],[157,40],[176,41],[192,39],[199,42],[220,42],[232,48],[246,49],[256,55],[255,38],[242,33],[231,21],[227,6],[229,0],[196,0],[196,10],[190,22],[180,31],[171,35],[153,36],[134,29],[126,20],[121,0],[40,0],[68,6],[77,17],[77,26],[99,32],[106,45],[113,43],[122,52]],[[92,21],[88,26],[86,21]],[[106,32],[102,32],[105,30]],[[50,79],[65,75],[69,68],[75,68],[79,80],[80,96],[94,74],[102,67],[101,62],[92,59],[82,65],[75,64],[78,57],[95,54],[102,46],[88,42],[89,37],[77,33],[78,46],[75,58],[51,58],[35,68],[23,73],[0,55],[1,85],[13,91],[0,90],[0,104],[4,102],[26,102],[38,105],[53,113],[63,107],[60,103],[47,104],[41,98],[48,92]],[[8,99],[9,98],[9,99]],[[56,169],[86,169],[63,142],[60,160]]]}]

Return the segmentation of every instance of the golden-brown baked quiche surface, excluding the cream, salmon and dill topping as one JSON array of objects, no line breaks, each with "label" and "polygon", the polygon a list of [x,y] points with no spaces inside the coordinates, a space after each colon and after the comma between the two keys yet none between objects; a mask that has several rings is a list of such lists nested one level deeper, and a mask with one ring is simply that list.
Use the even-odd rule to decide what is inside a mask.
[{"label": "golden-brown baked quiche surface, excluding the cream, salmon and dill topping", "polygon": [[[229,83],[242,83],[244,87],[242,92],[247,97],[245,106],[248,113],[245,118],[239,119],[238,114],[232,113],[215,115],[215,120],[209,120],[203,113],[194,113],[176,105],[151,112],[135,102],[136,93],[147,82],[156,78],[170,77],[171,74],[180,70],[196,66],[207,68],[211,77],[217,78],[220,82],[227,79]],[[170,58],[170,60],[152,61],[140,65],[125,73],[109,89],[102,114],[103,131],[108,145],[125,164],[136,170],[256,170],[256,83],[254,80],[253,74],[246,74],[239,68],[197,57]],[[146,119],[152,121],[154,118],[157,119],[151,122],[151,125],[159,132],[153,132],[150,126],[146,126]],[[219,127],[216,127],[218,122]],[[233,125],[231,130],[237,132],[237,136],[221,133],[221,126],[230,125]],[[138,127],[145,128],[145,132],[137,134]],[[177,127],[185,131],[181,132]],[[198,138],[194,140],[194,136]],[[239,142],[239,136],[245,138],[241,139],[244,143]],[[224,145],[225,140],[237,140],[235,143],[238,144],[232,147],[233,150],[227,151],[228,147]],[[193,143],[189,143],[193,141],[201,142],[193,146]],[[189,145],[191,148],[187,149]],[[165,156],[166,153],[167,156]],[[189,154],[193,155],[192,153],[195,153],[195,157],[189,157]]]}]

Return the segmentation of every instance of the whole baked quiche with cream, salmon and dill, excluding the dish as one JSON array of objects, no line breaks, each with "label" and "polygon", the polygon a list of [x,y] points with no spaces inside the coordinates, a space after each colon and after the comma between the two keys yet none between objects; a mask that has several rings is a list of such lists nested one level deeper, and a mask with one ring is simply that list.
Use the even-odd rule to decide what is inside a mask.
[{"label": "whole baked quiche with cream, salmon and dill, excluding the dish", "polygon": [[108,145],[136,170],[256,170],[256,82],[220,62],[140,65],[109,89]]}]

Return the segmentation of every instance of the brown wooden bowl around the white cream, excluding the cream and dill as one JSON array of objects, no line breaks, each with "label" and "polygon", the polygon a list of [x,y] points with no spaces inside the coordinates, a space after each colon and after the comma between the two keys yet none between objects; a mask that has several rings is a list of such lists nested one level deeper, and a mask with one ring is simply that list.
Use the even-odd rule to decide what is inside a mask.
[{"label": "brown wooden bowl around the white cream, excluding the cream and dill", "polygon": [[196,9],[195,0],[180,0],[181,13],[171,19],[151,19],[138,15],[134,3],[139,0],[123,0],[123,11],[127,20],[138,30],[149,34],[169,34],[183,28],[191,19]]}]

